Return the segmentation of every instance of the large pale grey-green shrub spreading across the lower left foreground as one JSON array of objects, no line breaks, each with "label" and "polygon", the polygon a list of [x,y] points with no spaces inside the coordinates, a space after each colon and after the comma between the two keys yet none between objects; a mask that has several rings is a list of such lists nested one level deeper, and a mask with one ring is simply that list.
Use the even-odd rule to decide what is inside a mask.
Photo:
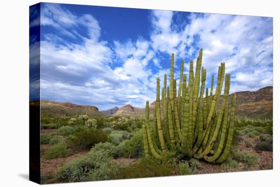
[{"label": "large pale grey-green shrub spreading across the lower left foreground", "polygon": [[[74,158],[71,162],[59,168],[55,173],[55,179],[77,182],[100,177],[102,175],[100,173],[105,170],[104,167],[109,167],[109,165],[113,164],[111,158],[115,154],[114,148],[115,146],[108,142],[96,144],[85,156]],[[99,171],[94,173],[95,170]]]}]

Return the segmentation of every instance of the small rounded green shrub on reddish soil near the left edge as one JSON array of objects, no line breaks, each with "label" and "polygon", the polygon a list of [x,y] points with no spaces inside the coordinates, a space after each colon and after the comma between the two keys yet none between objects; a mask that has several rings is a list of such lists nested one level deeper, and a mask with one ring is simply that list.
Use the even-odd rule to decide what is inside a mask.
[{"label": "small rounded green shrub on reddish soil near the left edge", "polygon": [[44,157],[47,159],[63,158],[72,154],[72,150],[64,141],[55,144],[53,147],[46,150]]}]

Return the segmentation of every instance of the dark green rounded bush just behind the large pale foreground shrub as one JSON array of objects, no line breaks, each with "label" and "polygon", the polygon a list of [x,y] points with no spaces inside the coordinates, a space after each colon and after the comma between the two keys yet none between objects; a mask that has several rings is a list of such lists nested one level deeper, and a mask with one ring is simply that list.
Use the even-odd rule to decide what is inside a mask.
[{"label": "dark green rounded bush just behind the large pale foreground shrub", "polygon": [[106,142],[107,133],[98,129],[85,129],[76,132],[67,138],[67,142],[71,147],[90,148],[99,142]]}]

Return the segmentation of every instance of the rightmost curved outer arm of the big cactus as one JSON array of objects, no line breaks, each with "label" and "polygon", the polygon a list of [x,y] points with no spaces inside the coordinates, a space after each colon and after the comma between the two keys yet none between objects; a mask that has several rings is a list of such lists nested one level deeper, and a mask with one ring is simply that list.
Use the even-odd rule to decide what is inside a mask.
[{"label": "rightmost curved outer arm of the big cactus", "polygon": [[231,106],[231,118],[230,118],[230,124],[228,127],[229,129],[228,129],[227,143],[226,143],[225,148],[223,149],[222,154],[216,160],[216,163],[223,163],[224,161],[226,161],[226,159],[230,153],[230,148],[231,148],[232,139],[233,139],[233,131],[234,131],[235,110],[236,110],[236,94],[233,94],[232,106]]}]

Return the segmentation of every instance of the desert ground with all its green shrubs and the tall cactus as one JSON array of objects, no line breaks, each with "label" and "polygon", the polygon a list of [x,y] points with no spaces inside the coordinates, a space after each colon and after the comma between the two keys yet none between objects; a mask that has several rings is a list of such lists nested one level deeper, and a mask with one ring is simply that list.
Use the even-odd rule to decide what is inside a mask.
[{"label": "desert ground with all its green shrubs and the tall cactus", "polygon": [[202,50],[194,73],[190,63],[188,83],[181,66],[178,91],[173,63],[172,57],[170,86],[165,75],[160,100],[157,80],[156,105],[146,103],[145,118],[42,114],[41,182],[272,169],[272,119],[235,118],[225,64],[213,93],[213,77],[205,89]]}]

